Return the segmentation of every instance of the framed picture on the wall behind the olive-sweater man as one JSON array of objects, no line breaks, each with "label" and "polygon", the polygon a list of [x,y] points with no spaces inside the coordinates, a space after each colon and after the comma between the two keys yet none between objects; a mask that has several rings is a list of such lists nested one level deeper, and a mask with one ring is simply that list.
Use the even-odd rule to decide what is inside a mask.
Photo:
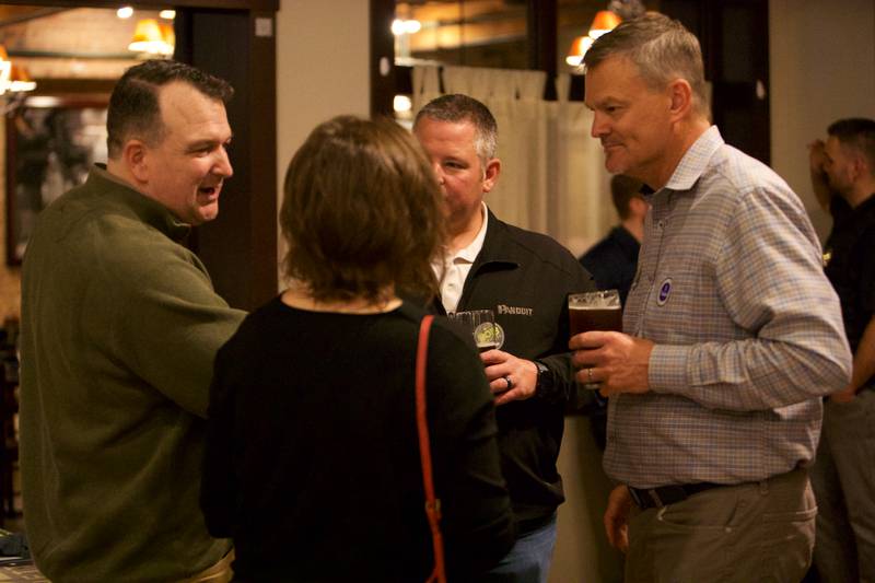
[{"label": "framed picture on the wall behind the olive-sweater man", "polygon": [[20,265],[44,208],[106,162],[107,95],[34,95],[7,115],[7,263]]}]

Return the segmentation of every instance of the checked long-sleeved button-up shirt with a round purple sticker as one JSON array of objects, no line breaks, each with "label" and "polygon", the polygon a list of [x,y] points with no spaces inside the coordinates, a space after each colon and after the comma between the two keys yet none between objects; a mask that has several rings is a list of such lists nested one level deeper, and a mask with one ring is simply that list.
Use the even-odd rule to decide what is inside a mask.
[{"label": "checked long-sleeved button-up shirt with a round purple sticker", "polygon": [[656,345],[651,390],[611,397],[605,470],[653,488],[806,465],[851,353],[802,202],[716,126],[650,201],[623,329]]}]

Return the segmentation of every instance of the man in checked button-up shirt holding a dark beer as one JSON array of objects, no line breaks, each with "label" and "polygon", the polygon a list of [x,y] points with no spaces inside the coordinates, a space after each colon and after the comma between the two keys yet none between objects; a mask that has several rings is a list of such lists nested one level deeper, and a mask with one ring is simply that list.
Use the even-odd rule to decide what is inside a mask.
[{"label": "man in checked button-up shirt holding a dark beer", "polygon": [[626,334],[571,340],[578,380],[610,397],[608,537],[627,581],[798,581],[820,397],[851,370],[814,230],[786,183],[711,126],[679,23],[625,22],[584,63],[608,171],[653,190]]}]

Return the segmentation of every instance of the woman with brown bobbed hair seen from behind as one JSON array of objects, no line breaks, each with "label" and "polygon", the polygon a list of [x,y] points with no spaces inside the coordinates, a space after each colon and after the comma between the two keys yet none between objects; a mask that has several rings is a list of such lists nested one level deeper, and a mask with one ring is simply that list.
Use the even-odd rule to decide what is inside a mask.
[{"label": "woman with brown bobbed hair seen from behind", "polygon": [[[433,565],[415,361],[442,200],[392,121],[318,126],[285,176],[289,287],[220,350],[201,506],[241,581],[424,581]],[[441,318],[427,361],[434,483],[451,581],[514,538],[492,396],[471,339]]]}]

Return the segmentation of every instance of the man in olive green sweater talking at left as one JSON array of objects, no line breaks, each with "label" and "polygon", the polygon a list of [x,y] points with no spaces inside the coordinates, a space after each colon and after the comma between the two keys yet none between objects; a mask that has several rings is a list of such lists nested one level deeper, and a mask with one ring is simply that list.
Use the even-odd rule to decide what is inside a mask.
[{"label": "man in olive green sweater talking at left", "polygon": [[231,94],[174,61],[129,69],[106,167],[43,211],[28,243],[24,517],[56,583],[230,578],[198,491],[213,357],[244,313],[177,242],[218,214]]}]

